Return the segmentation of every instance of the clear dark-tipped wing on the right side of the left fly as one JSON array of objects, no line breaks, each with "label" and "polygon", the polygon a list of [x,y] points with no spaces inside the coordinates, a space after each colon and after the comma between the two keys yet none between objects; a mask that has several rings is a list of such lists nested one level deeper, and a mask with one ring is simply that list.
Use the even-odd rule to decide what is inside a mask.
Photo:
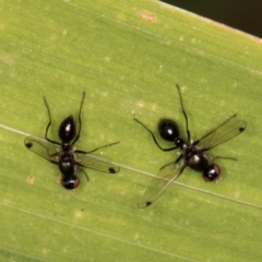
[{"label": "clear dark-tipped wing on the right side of the left fly", "polygon": [[95,169],[103,172],[117,174],[120,167],[110,163],[109,160],[99,156],[93,155],[88,152],[74,152],[78,164],[82,167]]}]

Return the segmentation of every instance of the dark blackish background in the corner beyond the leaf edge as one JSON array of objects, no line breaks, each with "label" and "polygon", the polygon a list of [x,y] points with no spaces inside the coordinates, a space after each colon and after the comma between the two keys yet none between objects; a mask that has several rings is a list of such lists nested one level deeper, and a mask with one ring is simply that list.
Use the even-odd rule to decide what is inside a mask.
[{"label": "dark blackish background in the corner beyond the leaf edge", "polygon": [[165,0],[162,2],[262,37],[262,0]]}]

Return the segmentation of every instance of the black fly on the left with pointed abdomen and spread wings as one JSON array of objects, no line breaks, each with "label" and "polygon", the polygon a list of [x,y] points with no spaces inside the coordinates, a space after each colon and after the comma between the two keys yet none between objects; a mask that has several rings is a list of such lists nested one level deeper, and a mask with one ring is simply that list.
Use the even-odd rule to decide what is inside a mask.
[{"label": "black fly on the left with pointed abdomen and spread wings", "polygon": [[88,176],[83,168],[90,168],[99,170],[108,174],[117,174],[120,168],[116,165],[109,164],[102,158],[97,158],[92,153],[97,152],[98,150],[118,144],[119,142],[106,144],[104,146],[96,147],[92,151],[85,152],[81,150],[75,150],[73,145],[78,142],[81,134],[82,121],[81,112],[83,103],[85,99],[85,92],[83,92],[82,102],[80,104],[79,110],[79,128],[76,131],[76,123],[73,116],[64,118],[60,123],[58,129],[58,136],[61,142],[57,142],[48,138],[48,131],[52,123],[50,108],[47,103],[47,99],[44,97],[44,103],[47,108],[49,122],[46,127],[45,141],[39,140],[33,136],[25,139],[25,146],[36,153],[37,155],[44,157],[48,162],[58,165],[61,172],[61,184],[66,189],[75,189],[80,183],[80,179],[76,176],[78,172],[83,171],[87,181]]}]

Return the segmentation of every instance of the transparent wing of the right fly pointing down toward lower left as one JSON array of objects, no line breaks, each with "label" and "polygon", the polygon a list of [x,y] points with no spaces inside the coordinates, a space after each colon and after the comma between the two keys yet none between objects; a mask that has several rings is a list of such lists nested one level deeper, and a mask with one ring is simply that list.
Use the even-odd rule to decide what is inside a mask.
[{"label": "transparent wing of the right fly pointing down toward lower left", "polygon": [[182,174],[184,165],[177,167],[175,163],[171,163],[158,172],[158,177],[153,178],[150,184],[142,192],[138,206],[145,209],[153,204],[164,191]]}]

